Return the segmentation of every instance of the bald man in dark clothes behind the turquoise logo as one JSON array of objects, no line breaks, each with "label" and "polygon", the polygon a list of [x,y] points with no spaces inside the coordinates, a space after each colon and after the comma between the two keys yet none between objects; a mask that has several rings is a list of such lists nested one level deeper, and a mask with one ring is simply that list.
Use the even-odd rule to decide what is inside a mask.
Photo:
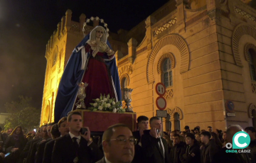
[{"label": "bald man in dark clothes behind the turquoise logo", "polygon": [[[240,125],[230,125],[227,130],[227,142],[230,142],[232,144],[233,142],[233,136],[235,133],[238,133],[239,131],[242,131],[242,127]],[[254,160],[252,160],[252,157],[250,154],[247,153],[227,153],[225,152],[227,147],[223,147],[220,152],[215,154],[215,157],[213,157],[213,163],[226,163],[226,162],[232,162],[232,163],[252,163]],[[232,149],[230,149],[232,150]],[[246,148],[245,148],[246,150]]]}]

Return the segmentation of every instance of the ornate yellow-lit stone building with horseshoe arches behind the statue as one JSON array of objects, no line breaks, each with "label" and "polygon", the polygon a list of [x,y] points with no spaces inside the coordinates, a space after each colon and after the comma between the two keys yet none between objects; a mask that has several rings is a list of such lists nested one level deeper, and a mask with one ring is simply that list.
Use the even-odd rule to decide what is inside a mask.
[{"label": "ornate yellow-lit stone building with horseshoe arches behind the statue", "polygon": [[[256,127],[256,11],[247,2],[170,0],[132,30],[110,33],[121,86],[134,89],[137,116],[156,116],[155,86],[162,82],[165,129]],[[71,14],[66,12],[46,45],[41,124],[53,121],[60,77],[82,40],[85,15],[78,23]]]}]

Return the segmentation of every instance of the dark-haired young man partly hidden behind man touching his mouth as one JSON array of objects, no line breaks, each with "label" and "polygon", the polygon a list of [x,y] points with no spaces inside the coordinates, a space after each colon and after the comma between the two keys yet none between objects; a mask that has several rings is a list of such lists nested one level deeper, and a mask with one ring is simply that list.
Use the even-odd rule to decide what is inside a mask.
[{"label": "dark-haired young man partly hidden behind man touching his mouth", "polygon": [[141,142],[141,137],[144,134],[144,130],[149,129],[149,118],[146,116],[139,116],[137,118],[137,126],[138,130],[134,131],[132,135],[138,140],[137,144],[135,145],[135,154],[134,154],[134,159],[132,162],[143,162],[143,153],[142,153],[142,142]]}]

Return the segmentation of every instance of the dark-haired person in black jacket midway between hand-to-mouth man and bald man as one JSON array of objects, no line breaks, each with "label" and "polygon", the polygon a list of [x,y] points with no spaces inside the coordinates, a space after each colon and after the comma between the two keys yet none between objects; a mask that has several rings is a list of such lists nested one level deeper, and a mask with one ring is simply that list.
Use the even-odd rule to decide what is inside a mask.
[{"label": "dark-haired person in black jacket midway between hand-to-mouth man and bald man", "polygon": [[200,146],[198,141],[196,141],[195,135],[193,133],[186,134],[186,154],[183,154],[185,159],[184,163],[199,163],[200,159]]}]

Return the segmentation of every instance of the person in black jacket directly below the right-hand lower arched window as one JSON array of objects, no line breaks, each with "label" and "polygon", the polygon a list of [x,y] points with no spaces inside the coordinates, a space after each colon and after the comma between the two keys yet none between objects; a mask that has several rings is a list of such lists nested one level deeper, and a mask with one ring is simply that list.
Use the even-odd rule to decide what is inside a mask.
[{"label": "person in black jacket directly below the right-hand lower arched window", "polygon": [[181,142],[181,136],[178,134],[174,134],[173,141],[174,147],[171,148],[171,152],[169,154],[171,163],[185,162],[183,154],[186,153],[186,143]]}]

